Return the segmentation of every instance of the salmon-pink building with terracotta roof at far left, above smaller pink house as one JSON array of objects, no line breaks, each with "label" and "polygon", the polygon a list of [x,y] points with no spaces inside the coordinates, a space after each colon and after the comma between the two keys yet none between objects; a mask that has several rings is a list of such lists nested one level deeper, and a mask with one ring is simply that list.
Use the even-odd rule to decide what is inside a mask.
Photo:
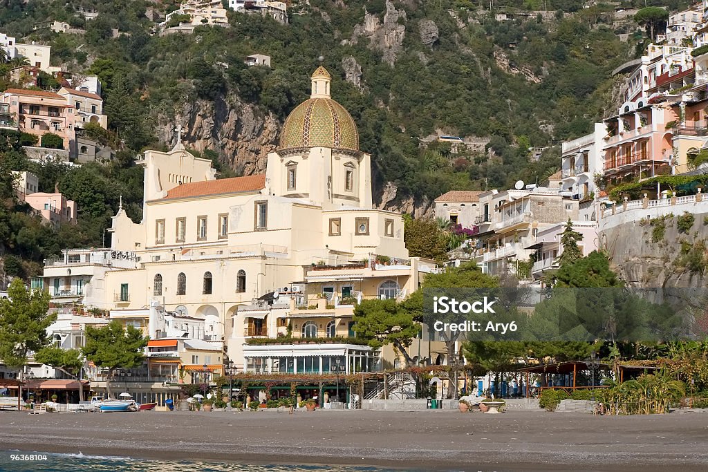
[{"label": "salmon-pink building with terracotta roof at far left, above smaller pink house", "polygon": [[76,115],[67,98],[54,92],[8,88],[0,96],[0,112],[13,129],[40,138],[47,132],[58,134],[64,140],[63,149],[70,149]]}]

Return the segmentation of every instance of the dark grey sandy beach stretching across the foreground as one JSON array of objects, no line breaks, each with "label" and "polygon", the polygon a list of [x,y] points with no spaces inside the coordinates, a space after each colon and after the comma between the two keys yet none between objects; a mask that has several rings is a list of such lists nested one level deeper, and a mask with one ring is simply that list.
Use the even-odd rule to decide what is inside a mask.
[{"label": "dark grey sandy beach stretching across the foreground", "polygon": [[421,470],[708,470],[708,414],[0,412],[0,449]]}]

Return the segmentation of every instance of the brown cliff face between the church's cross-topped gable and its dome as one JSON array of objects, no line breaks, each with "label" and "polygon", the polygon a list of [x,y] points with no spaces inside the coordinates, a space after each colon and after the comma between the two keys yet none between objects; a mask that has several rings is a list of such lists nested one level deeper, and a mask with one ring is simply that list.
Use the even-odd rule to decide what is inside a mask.
[{"label": "brown cliff face between the church's cross-topped gable and its dome", "polygon": [[[179,115],[185,146],[217,151],[223,163],[244,175],[264,173],[266,157],[278,145],[278,119],[232,93],[215,102],[186,103]],[[160,116],[158,123],[160,141],[171,148],[177,142],[175,120]]]}]

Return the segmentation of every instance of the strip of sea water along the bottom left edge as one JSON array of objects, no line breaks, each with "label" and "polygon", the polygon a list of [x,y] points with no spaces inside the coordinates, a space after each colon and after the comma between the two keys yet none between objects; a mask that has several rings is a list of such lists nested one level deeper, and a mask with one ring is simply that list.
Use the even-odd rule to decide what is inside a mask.
[{"label": "strip of sea water along the bottom left edge", "polygon": [[[46,460],[13,461],[13,454],[40,454]],[[129,457],[84,454],[26,453],[0,451],[0,472],[422,472],[421,469],[392,469],[362,466],[291,466],[233,464],[204,461],[151,461]]]}]

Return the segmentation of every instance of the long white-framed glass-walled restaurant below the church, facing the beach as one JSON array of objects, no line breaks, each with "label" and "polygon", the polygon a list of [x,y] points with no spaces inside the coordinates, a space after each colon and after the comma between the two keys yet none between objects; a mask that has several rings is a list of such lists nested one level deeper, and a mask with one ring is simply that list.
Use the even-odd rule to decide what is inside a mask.
[{"label": "long white-framed glass-walled restaurant below the church, facing the beach", "polygon": [[379,352],[360,345],[261,345],[244,347],[246,372],[256,374],[356,374],[381,369]]}]

